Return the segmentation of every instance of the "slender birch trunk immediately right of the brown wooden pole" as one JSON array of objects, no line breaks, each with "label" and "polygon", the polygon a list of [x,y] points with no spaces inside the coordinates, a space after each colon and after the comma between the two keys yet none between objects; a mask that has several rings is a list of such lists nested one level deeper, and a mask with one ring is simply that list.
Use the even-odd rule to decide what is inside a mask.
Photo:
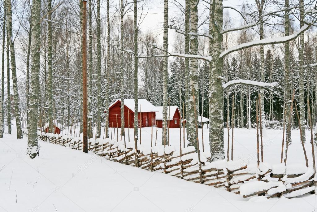
[{"label": "slender birch trunk immediately right of the brown wooden pole", "polygon": [[[98,12],[97,12],[98,13]],[[88,65],[88,129],[87,134],[88,138],[94,137],[94,122],[93,122],[93,112],[91,100],[93,97],[93,36],[92,36],[92,1],[89,0],[89,12],[88,12],[88,21],[89,21],[89,65]]]}]

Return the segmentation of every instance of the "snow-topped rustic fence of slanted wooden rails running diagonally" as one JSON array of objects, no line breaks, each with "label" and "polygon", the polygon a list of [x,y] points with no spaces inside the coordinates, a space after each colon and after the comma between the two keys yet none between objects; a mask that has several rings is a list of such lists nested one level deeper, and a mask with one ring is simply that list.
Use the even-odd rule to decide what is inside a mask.
[{"label": "snow-topped rustic fence of slanted wooden rails running diagonally", "polygon": [[[38,132],[39,139],[75,150],[82,150],[80,138],[62,134]],[[210,154],[198,154],[194,146],[177,150],[175,146],[153,146],[151,149],[130,142],[110,138],[88,139],[88,150],[100,157],[141,169],[159,171],[181,179],[223,188],[240,194],[244,198],[250,196],[292,198],[315,192],[314,169],[301,164],[267,163],[246,164],[243,160],[218,160],[210,162]],[[201,169],[199,168],[201,165]]]}]

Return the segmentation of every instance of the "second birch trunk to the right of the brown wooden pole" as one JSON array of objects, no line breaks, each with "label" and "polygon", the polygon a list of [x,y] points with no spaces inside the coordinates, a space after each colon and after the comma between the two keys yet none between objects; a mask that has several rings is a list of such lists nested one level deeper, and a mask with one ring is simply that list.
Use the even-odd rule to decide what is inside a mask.
[{"label": "second birch trunk to the right of the brown wooden pole", "polygon": [[[96,138],[101,135],[101,113],[102,113],[102,100],[101,100],[101,19],[100,19],[100,0],[97,0],[97,132]],[[122,35],[121,35],[122,37]],[[123,42],[123,40],[121,40]],[[122,115],[122,110],[121,110]],[[122,116],[121,116],[122,119]],[[122,122],[121,122],[122,123]],[[121,126],[122,130],[122,126]],[[124,125],[123,125],[124,130]],[[122,133],[121,133],[122,134]]]}]

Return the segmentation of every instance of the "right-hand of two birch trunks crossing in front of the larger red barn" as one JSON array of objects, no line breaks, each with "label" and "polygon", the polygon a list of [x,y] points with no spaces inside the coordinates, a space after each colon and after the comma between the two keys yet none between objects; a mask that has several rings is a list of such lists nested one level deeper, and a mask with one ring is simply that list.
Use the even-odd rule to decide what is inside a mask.
[{"label": "right-hand of two birch trunks crossing in front of the larger red barn", "polygon": [[[133,0],[134,4],[134,16],[133,16],[133,28],[134,28],[134,139],[135,142],[139,141],[138,134],[138,26],[137,26],[137,0]],[[141,126],[142,127],[142,126]],[[130,130],[130,129],[129,129]]]}]

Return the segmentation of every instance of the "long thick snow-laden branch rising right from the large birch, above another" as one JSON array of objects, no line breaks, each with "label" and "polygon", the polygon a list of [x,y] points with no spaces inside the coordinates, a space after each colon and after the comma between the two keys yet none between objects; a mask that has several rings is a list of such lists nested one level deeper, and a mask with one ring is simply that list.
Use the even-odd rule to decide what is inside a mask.
[{"label": "long thick snow-laden branch rising right from the large birch, above another", "polygon": [[256,40],[256,41],[246,42],[246,43],[242,43],[242,44],[233,46],[233,47],[225,50],[222,54],[220,54],[220,58],[222,58],[222,57],[224,57],[232,52],[244,49],[244,48],[249,48],[249,47],[253,47],[253,46],[260,46],[260,45],[284,43],[284,42],[291,41],[291,40],[297,38],[299,35],[301,35],[301,33],[303,33],[304,31],[309,29],[309,27],[310,27],[310,25],[305,24],[304,26],[301,27],[301,29],[298,30],[298,32],[296,32],[292,35],[278,37],[278,38],[267,38],[267,39],[262,39],[262,40]]}]

